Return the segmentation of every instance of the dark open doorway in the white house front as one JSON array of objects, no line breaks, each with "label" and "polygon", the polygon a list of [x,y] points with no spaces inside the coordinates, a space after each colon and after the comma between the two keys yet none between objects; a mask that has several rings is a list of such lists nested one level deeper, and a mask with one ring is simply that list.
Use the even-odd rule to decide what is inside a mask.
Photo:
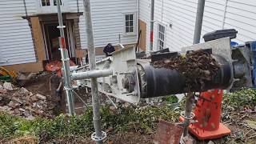
[{"label": "dark open doorway in the white house front", "polygon": [[[66,28],[64,29],[66,49],[68,50],[69,57],[74,59],[74,30],[72,22],[64,22]],[[59,48],[58,38],[60,36],[57,28],[58,23],[47,22],[42,24],[44,42],[46,46],[46,58],[47,60],[61,60],[61,53]]]}]

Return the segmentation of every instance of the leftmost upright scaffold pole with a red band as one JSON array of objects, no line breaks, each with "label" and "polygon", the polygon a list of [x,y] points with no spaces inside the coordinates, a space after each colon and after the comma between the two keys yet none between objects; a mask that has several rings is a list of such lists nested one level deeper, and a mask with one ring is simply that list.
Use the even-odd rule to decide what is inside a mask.
[{"label": "leftmost upright scaffold pole with a red band", "polygon": [[70,115],[74,115],[74,97],[72,94],[72,86],[71,86],[71,80],[70,80],[70,58],[68,58],[67,50],[66,50],[66,44],[65,44],[65,34],[64,34],[64,28],[63,22],[62,22],[62,11],[60,6],[60,0],[57,0],[57,8],[58,8],[58,23],[59,26],[58,29],[60,31],[60,38],[59,38],[59,46],[61,50],[62,55],[62,65],[63,65],[63,77],[64,77],[64,89],[66,91],[66,101],[69,107],[69,113]]}]

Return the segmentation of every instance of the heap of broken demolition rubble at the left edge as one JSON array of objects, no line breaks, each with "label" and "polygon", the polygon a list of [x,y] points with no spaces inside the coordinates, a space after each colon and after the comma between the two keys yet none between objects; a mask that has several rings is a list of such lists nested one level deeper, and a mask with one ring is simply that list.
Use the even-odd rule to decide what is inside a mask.
[{"label": "heap of broken demolition rubble at the left edge", "polygon": [[18,115],[27,119],[53,118],[56,102],[42,94],[34,94],[24,87],[15,87],[10,82],[0,83],[0,112]]}]

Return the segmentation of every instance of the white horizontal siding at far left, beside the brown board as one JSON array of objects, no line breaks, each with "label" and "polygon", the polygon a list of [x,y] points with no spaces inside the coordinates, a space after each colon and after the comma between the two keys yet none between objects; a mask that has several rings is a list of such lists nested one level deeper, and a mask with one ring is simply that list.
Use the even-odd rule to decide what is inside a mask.
[{"label": "white horizontal siding at far left, beside the brown board", "polygon": [[[26,0],[28,13],[35,3]],[[23,1],[0,1],[0,66],[36,62],[30,26]]]}]

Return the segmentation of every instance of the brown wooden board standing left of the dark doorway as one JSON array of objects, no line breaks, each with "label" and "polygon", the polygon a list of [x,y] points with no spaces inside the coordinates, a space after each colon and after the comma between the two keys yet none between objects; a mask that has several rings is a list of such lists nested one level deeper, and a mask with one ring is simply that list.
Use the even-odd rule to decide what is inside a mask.
[{"label": "brown wooden board standing left of the dark doorway", "polygon": [[42,27],[39,22],[38,17],[31,17],[30,22],[32,25],[32,34],[34,36],[34,45],[36,48],[36,55],[38,56],[38,60],[46,60],[46,50],[43,42],[42,36]]}]

